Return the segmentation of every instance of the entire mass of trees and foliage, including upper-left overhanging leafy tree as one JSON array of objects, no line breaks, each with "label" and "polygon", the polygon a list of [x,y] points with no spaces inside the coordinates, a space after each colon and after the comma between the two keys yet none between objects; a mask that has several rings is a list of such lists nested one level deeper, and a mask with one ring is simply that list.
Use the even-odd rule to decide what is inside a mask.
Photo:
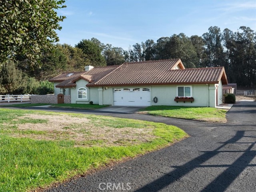
[{"label": "entire mass of trees and foliage, including upper-left overhanging leafy tree", "polygon": [[59,23],[66,18],[58,16],[56,10],[66,7],[65,0],[2,1],[0,94],[38,93],[40,87],[47,92],[53,85],[40,85],[39,81],[64,71],[83,71],[86,65],[176,58],[182,59],[186,68],[224,66],[230,83],[256,86],[256,33],[249,27],[233,32],[211,26],[202,36],[173,34],[128,49],[105,45],[96,38],[70,46],[56,44],[56,30],[61,30]]}]

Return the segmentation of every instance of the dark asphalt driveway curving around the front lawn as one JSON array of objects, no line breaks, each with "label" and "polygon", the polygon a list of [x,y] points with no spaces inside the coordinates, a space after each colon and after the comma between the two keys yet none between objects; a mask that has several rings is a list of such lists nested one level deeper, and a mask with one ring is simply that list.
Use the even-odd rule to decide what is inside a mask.
[{"label": "dark asphalt driveway curving around the front lawn", "polygon": [[138,114],[99,114],[176,125],[191,137],[47,192],[256,191],[256,102],[233,105],[225,124]]}]

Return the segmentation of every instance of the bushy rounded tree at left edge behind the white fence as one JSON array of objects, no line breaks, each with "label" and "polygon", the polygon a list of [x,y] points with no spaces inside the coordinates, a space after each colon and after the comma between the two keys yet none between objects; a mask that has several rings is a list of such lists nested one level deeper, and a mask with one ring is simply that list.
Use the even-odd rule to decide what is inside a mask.
[{"label": "bushy rounded tree at left edge behind the white fence", "polygon": [[0,71],[0,94],[21,94],[26,90],[26,75],[17,69],[13,61],[2,65]]}]

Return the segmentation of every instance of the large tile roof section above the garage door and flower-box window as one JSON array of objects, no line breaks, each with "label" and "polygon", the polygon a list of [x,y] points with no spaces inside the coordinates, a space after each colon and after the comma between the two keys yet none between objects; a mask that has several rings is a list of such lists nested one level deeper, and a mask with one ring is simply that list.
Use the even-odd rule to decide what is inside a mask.
[{"label": "large tile roof section above the garage door and flower-box window", "polygon": [[224,67],[174,69],[170,65],[159,62],[150,65],[146,62],[124,63],[112,73],[94,83],[94,86],[110,85],[153,85],[153,84],[227,84]]}]

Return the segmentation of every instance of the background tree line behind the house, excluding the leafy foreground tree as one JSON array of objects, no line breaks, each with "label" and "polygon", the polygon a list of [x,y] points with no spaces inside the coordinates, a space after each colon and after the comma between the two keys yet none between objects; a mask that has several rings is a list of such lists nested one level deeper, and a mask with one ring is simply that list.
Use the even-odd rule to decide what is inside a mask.
[{"label": "background tree line behind the house, excluding the leafy foreground tree", "polygon": [[120,65],[124,62],[180,58],[186,68],[224,66],[228,82],[238,86],[256,86],[256,33],[249,27],[233,32],[210,27],[202,36],[188,37],[184,33],[161,37],[156,42],[146,40],[127,50],[104,45],[96,38],[83,39],[74,47],[56,44],[45,52],[41,67],[17,59],[18,67],[36,79],[48,79],[63,71],[81,71],[85,65]]}]

